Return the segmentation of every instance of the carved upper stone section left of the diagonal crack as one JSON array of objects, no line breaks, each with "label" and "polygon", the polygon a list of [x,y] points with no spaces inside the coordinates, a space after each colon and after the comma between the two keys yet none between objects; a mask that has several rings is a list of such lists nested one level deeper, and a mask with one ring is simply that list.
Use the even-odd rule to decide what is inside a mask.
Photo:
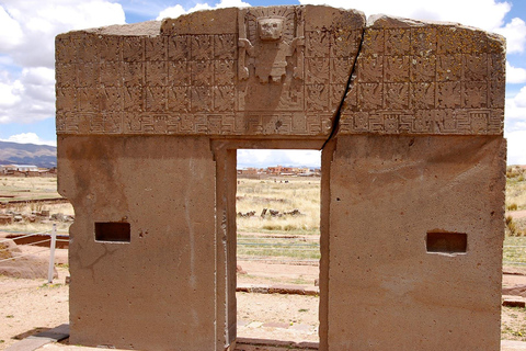
[{"label": "carved upper stone section left of the diagonal crack", "polygon": [[[275,38],[265,21],[279,24]],[[58,134],[327,137],[365,18],[306,5],[202,11],[152,34],[157,24],[57,37]]]}]

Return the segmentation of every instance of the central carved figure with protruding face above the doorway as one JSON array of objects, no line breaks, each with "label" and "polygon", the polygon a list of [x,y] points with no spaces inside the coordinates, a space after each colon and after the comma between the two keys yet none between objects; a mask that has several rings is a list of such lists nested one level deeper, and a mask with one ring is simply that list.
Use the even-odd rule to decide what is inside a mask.
[{"label": "central carved figure with protruding face above the doorway", "polygon": [[301,15],[293,7],[239,11],[238,111],[302,111]]}]

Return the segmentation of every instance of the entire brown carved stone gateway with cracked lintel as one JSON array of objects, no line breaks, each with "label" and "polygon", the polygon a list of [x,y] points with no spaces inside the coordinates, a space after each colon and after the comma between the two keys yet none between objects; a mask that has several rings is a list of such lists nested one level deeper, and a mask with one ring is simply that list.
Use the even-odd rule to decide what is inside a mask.
[{"label": "entire brown carved stone gateway with cracked lintel", "polygon": [[236,344],[236,150],[321,149],[320,350],[499,350],[505,43],[318,5],[56,38],[70,342]]}]

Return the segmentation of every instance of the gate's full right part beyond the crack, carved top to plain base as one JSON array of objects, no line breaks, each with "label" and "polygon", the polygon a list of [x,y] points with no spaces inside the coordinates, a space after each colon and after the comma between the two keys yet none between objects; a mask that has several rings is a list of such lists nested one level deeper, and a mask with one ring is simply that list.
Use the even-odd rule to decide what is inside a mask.
[{"label": "gate's full right part beyond the crack, carved top to plain base", "polygon": [[325,156],[323,350],[499,350],[504,55],[476,29],[368,20]]}]

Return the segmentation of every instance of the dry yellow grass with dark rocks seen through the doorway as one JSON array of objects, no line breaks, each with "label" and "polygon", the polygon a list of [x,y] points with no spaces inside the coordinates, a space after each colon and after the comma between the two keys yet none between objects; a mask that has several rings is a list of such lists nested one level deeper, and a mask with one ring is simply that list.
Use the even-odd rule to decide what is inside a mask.
[{"label": "dry yellow grass with dark rocks seen through the doorway", "polygon": [[[320,179],[275,178],[239,179],[236,208],[238,213],[255,212],[252,217],[238,216],[238,231],[320,233]],[[299,215],[261,216],[263,208],[281,214],[299,211]]]}]

